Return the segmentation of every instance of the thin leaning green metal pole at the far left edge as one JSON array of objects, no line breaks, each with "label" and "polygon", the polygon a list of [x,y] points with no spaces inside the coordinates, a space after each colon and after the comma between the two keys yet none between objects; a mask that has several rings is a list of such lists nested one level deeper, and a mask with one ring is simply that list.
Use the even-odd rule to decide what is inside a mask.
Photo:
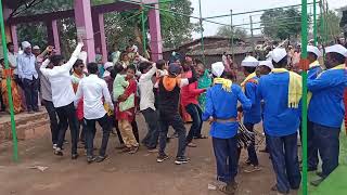
[{"label": "thin leaning green metal pole at the far left edge", "polygon": [[[2,1],[0,1],[0,28],[1,28],[1,44],[2,44],[2,50],[3,50],[4,66],[5,66],[7,70],[10,70],[8,48],[7,48],[7,36],[4,34]],[[8,86],[8,92],[9,92],[11,130],[12,130],[12,138],[13,138],[13,160],[18,161],[18,142],[17,142],[17,133],[15,130],[14,109],[13,109],[12,89],[11,89],[11,76],[10,75],[7,75],[7,86]]]}]

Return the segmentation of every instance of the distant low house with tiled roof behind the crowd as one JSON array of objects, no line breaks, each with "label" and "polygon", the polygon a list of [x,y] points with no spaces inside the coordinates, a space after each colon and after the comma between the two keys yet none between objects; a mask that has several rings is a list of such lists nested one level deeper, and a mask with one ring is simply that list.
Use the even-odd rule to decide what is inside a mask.
[{"label": "distant low house with tiled roof behind the crowd", "polygon": [[[169,58],[174,51],[187,54],[193,58],[203,58],[201,39],[192,40],[176,49],[164,49],[164,58]],[[230,38],[216,36],[204,38],[204,54],[207,66],[210,66],[210,64],[215,62],[220,62],[223,52],[227,54],[234,53],[234,62],[240,65],[241,61],[246,56],[246,54],[253,52],[253,47],[245,43],[241,39],[234,39],[234,47],[232,49]]]}]

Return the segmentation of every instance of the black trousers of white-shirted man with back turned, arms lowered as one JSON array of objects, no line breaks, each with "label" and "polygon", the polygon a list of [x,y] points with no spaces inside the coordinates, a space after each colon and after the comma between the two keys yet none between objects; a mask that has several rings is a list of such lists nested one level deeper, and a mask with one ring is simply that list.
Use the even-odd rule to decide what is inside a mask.
[{"label": "black trousers of white-shirted man with back turned, arms lowered", "polygon": [[94,135],[95,135],[95,122],[99,122],[99,125],[102,128],[102,142],[99,155],[105,156],[110,132],[111,132],[111,122],[108,121],[107,114],[103,116],[102,118],[98,119],[86,119],[85,118],[85,125],[86,125],[86,146],[87,146],[87,156],[93,156],[93,143],[94,143]]}]

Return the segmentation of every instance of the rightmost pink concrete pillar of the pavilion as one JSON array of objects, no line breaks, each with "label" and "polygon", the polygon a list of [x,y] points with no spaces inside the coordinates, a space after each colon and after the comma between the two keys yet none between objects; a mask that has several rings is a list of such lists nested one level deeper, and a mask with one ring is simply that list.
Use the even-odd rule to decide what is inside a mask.
[{"label": "rightmost pink concrete pillar of the pavilion", "polygon": [[[154,8],[158,9],[159,5],[155,4]],[[162,30],[160,30],[160,16],[159,11],[151,9],[149,11],[149,23],[150,23],[150,35],[151,35],[151,51],[152,61],[163,58],[163,42],[162,42]]]}]

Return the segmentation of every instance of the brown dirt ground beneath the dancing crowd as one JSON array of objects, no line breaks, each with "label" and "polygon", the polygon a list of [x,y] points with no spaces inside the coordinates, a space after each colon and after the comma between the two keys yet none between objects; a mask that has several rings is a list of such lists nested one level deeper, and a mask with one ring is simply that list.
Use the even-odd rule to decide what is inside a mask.
[{"label": "brown dirt ground beneath the dancing crowd", "polygon": [[[142,116],[138,116],[140,135],[144,135],[146,126]],[[190,127],[188,125],[187,127]],[[259,127],[257,127],[259,129]],[[204,125],[204,133],[208,133]],[[188,148],[191,161],[177,166],[174,157],[177,140],[167,146],[171,158],[163,164],[156,162],[156,154],[149,154],[144,147],[134,155],[118,154],[115,145],[118,139],[111,136],[107,147],[110,158],[101,164],[86,162],[81,155],[72,160],[69,146],[63,157],[53,155],[49,129],[47,135],[36,140],[20,142],[20,162],[12,162],[12,145],[0,145],[0,195],[218,195],[218,191],[208,190],[216,182],[215,156],[211,139],[197,140],[198,147]],[[172,131],[171,131],[172,132]],[[100,131],[95,139],[100,144]],[[69,138],[69,135],[67,135]],[[260,146],[261,147],[261,146]],[[79,151],[83,154],[83,151]],[[262,170],[244,173],[239,170],[237,195],[272,195],[274,174],[268,154],[258,153]],[[245,152],[241,164],[245,160]],[[48,167],[43,172],[30,169],[33,166]],[[296,194],[296,192],[292,192]]]}]

